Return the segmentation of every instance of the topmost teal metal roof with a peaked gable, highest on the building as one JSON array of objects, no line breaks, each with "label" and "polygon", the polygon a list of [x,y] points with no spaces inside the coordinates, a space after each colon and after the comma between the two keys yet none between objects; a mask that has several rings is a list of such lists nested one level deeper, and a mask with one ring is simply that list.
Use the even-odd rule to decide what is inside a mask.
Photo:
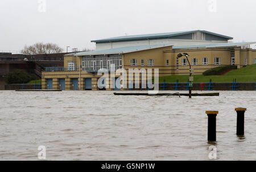
[{"label": "topmost teal metal roof with a peaked gable, highest on the building", "polygon": [[220,34],[208,32],[208,31],[196,30],[196,31],[184,31],[184,32],[155,33],[155,34],[147,34],[147,35],[119,36],[119,37],[113,37],[113,38],[106,38],[106,39],[102,39],[102,40],[93,40],[91,42],[100,43],[100,42],[112,42],[112,41],[145,40],[145,39],[152,39],[152,38],[168,38],[168,37],[185,35],[185,34],[195,33],[195,32],[208,33],[210,35],[220,36],[220,37],[227,38],[228,40],[233,40],[233,37],[220,35]]}]

